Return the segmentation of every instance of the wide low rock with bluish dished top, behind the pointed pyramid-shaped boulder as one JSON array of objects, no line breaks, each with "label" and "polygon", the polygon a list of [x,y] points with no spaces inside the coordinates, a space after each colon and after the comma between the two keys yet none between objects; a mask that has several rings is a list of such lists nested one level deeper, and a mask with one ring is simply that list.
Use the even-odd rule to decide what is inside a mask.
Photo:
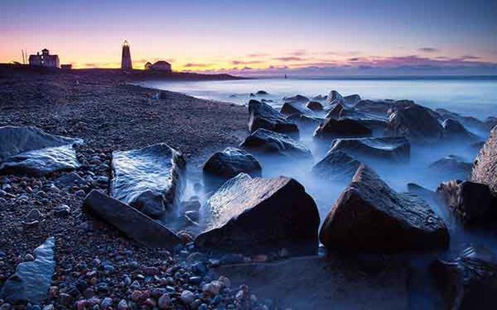
[{"label": "wide low rock with bluish dished top, behind the pointed pyramid-shaped boulder", "polygon": [[358,158],[388,161],[409,161],[411,145],[405,137],[340,138],[333,141],[329,152],[344,151]]}]

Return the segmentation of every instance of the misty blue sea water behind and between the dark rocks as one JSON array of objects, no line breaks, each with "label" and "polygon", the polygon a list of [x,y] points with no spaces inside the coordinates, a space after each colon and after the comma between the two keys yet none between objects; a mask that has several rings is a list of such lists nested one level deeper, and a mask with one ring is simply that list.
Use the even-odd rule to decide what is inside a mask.
[{"label": "misty blue sea water behind and between the dark rocks", "polygon": [[[318,94],[328,94],[330,90],[338,90],[342,95],[360,94],[362,99],[411,99],[432,109],[442,107],[463,116],[475,116],[482,121],[488,116],[497,116],[496,79],[255,79],[202,82],[153,81],[141,85],[239,105],[246,105],[250,99],[264,98],[273,101],[269,104],[277,110],[282,106],[282,98],[285,96],[302,94],[312,98]],[[269,92],[269,95],[258,98],[249,96],[250,93],[258,90]],[[302,183],[318,205],[323,221],[350,180],[331,182],[311,175],[311,167],[320,161],[331,147],[331,141],[318,141],[313,138],[314,129],[315,127],[300,127],[300,142],[311,149],[313,160],[287,161],[271,156],[256,155],[256,157],[262,163],[262,176],[289,176]],[[488,132],[480,132],[475,128],[467,129],[478,135],[481,141],[487,138]],[[478,149],[469,144],[458,141],[430,145],[411,144],[411,156],[407,163],[373,161],[368,158],[360,160],[373,167],[382,179],[398,192],[407,192],[407,183],[416,183],[435,190],[443,181],[457,178],[457,174],[451,171],[439,174],[429,168],[429,165],[449,155],[461,156],[465,161],[472,163],[478,154]],[[189,167],[188,172],[190,182],[187,195],[199,196],[201,200],[208,198],[209,191],[193,186],[194,183],[203,183],[200,167]],[[454,258],[469,245],[484,245],[494,252],[497,249],[495,231],[466,229],[447,210],[447,207],[433,201],[427,203],[447,224],[451,241],[447,251],[409,256],[413,266],[411,305],[416,309],[440,307],[440,296],[433,287],[428,271],[429,262],[434,258]]]}]

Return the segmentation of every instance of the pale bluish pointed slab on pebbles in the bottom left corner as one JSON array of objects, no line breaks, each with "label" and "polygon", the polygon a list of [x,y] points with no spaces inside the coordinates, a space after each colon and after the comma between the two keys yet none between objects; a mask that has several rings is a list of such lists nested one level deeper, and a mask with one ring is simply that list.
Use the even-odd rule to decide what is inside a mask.
[{"label": "pale bluish pointed slab on pebbles in the bottom left corner", "polygon": [[55,270],[55,238],[50,237],[33,252],[35,260],[21,262],[0,291],[11,304],[41,304],[48,294]]}]

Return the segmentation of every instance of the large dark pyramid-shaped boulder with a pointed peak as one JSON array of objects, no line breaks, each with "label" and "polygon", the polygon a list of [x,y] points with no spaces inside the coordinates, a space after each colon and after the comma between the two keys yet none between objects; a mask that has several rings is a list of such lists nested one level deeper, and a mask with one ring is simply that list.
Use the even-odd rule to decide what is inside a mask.
[{"label": "large dark pyramid-shaped boulder with a pointed peak", "polygon": [[445,248],[449,231],[424,200],[394,192],[361,165],[324,220],[320,240],[327,249],[393,253]]}]

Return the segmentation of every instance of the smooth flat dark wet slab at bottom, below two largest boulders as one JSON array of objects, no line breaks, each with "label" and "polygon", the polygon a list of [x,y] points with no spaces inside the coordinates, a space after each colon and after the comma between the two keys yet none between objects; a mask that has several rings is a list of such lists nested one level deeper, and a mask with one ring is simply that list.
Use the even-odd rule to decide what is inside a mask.
[{"label": "smooth flat dark wet slab at bottom, below two largest boulders", "polygon": [[409,309],[408,271],[398,263],[324,257],[226,265],[215,269],[232,287],[249,285],[278,309]]}]

